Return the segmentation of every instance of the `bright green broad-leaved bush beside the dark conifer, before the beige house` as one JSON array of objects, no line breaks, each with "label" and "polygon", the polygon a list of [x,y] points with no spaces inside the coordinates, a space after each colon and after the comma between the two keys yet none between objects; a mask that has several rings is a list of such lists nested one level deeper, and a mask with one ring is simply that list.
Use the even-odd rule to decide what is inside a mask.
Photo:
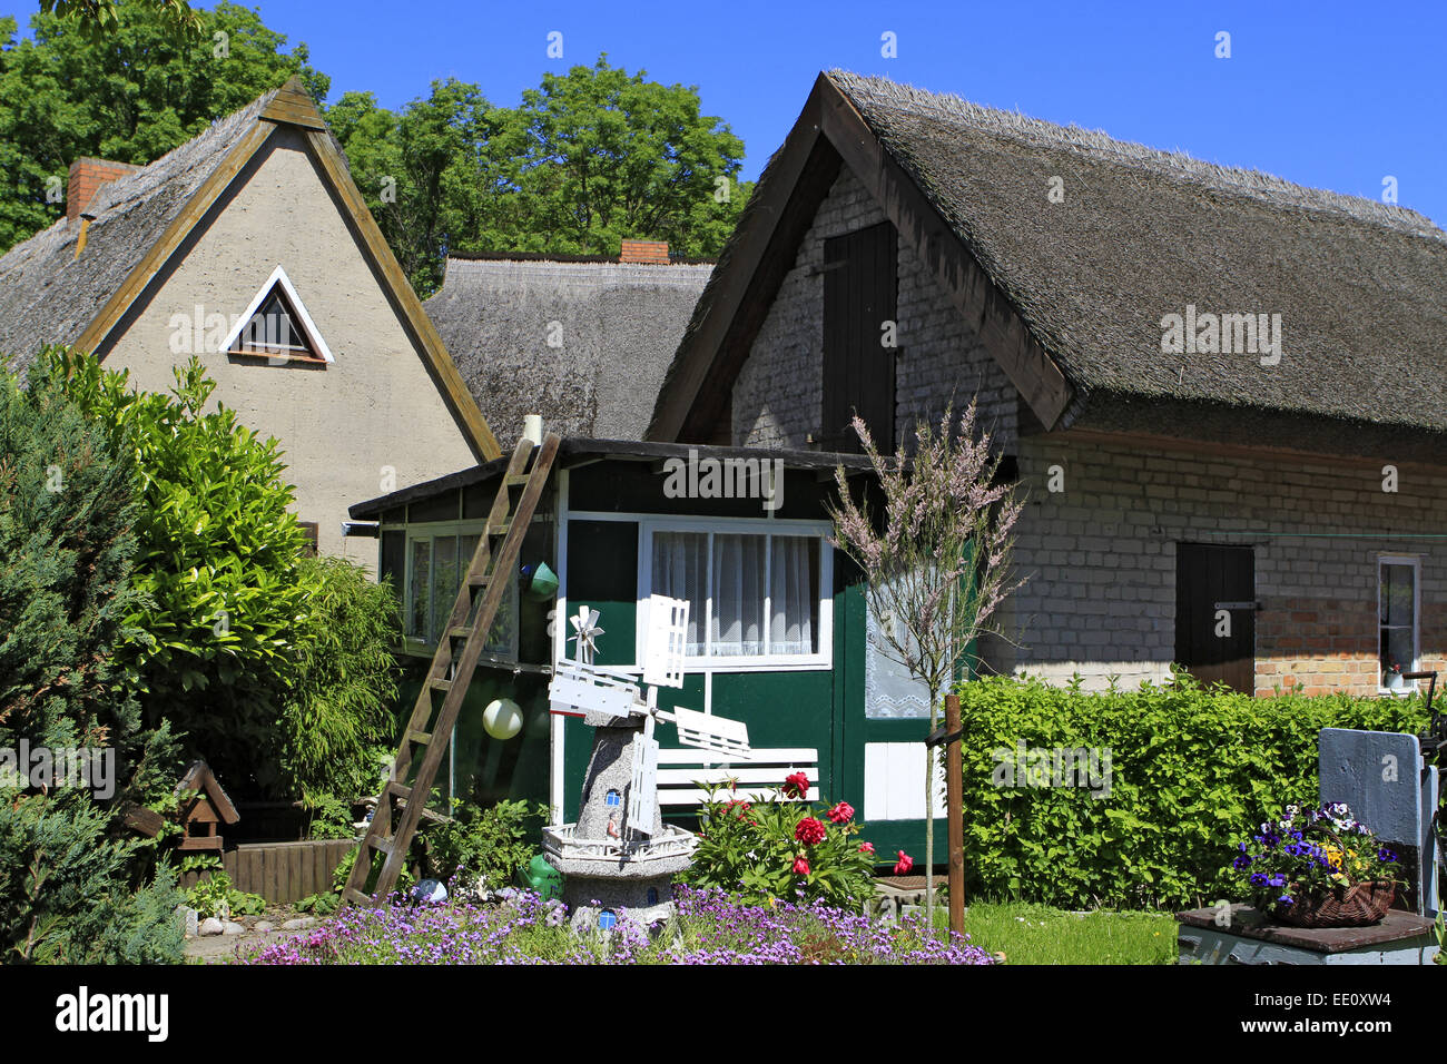
[{"label": "bright green broad-leaved bush beside the dark conifer, before the beige house", "polygon": [[223,779],[252,790],[250,770],[275,764],[273,725],[307,611],[279,444],[223,405],[205,411],[216,384],[194,358],[169,395],[132,391],[127,372],[62,349],[41,362],[139,470],[133,583],[149,602],[127,621],[139,628],[146,715],[175,721]]}]

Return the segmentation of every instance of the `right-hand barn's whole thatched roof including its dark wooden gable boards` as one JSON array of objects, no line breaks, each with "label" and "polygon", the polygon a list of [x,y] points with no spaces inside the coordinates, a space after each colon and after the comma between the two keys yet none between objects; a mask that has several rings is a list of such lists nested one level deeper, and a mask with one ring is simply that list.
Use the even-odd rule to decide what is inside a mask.
[{"label": "right-hand barn's whole thatched roof including its dark wooden gable boards", "polygon": [[[777,284],[763,262],[787,258],[841,158],[956,305],[1019,330],[998,358],[1048,428],[1169,430],[1210,407],[1324,418],[1318,439],[1447,431],[1447,235],[1421,214],[831,71],[695,310],[653,437],[709,431],[710,385]],[[1163,352],[1188,305],[1279,316],[1279,363]]]}]

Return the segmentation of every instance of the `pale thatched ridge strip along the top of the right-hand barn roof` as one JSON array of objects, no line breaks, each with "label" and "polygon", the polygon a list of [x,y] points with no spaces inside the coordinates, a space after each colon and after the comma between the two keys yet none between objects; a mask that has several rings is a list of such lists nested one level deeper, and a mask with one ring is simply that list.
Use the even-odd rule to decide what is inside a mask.
[{"label": "pale thatched ridge strip along the top of the right-hand barn roof", "polygon": [[[831,69],[828,77],[841,91],[867,106],[913,111],[943,122],[967,123],[996,136],[1032,146],[1065,148],[1081,155],[1171,177],[1239,195],[1249,195],[1275,207],[1292,206],[1347,214],[1412,236],[1447,242],[1444,233],[1425,214],[1409,207],[1378,203],[1362,195],[1347,195],[1328,188],[1312,188],[1286,178],[1244,166],[1207,162],[1181,151],[1150,148],[1134,140],[1120,140],[1100,129],[1085,129],[1033,119],[965,100],[954,93],[933,93],[890,78],[870,77],[845,69]],[[868,114],[864,116],[868,120]]]}]

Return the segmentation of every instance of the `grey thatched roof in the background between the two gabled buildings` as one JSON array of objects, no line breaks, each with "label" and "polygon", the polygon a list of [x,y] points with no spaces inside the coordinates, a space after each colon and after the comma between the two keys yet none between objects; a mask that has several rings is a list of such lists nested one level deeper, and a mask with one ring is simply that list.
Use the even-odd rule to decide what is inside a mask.
[{"label": "grey thatched roof in the background between the two gabled buildings", "polygon": [[637,440],[710,269],[451,258],[424,305],[501,439],[541,414],[563,436]]}]

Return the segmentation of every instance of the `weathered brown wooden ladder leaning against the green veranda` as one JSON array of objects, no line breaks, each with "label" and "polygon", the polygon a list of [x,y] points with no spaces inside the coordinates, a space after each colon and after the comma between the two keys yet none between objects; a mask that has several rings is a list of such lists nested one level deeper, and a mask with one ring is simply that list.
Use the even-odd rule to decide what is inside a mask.
[{"label": "weathered brown wooden ladder leaning against the green veranda", "polygon": [[[437,776],[443,754],[447,751],[453,725],[457,722],[457,712],[467,696],[467,685],[472,682],[478,659],[482,656],[482,649],[492,631],[492,622],[502,605],[502,596],[517,569],[522,537],[527,536],[532,511],[537,508],[553,469],[559,443],[560,439],[556,433],[548,433],[541,446],[522,437],[512,452],[512,459],[508,462],[502,484],[498,485],[498,494],[492,501],[492,510],[488,512],[486,530],[478,539],[472,565],[467,566],[467,575],[457,589],[457,599],[447,618],[447,631],[437,641],[437,653],[433,656],[431,669],[427,670],[427,680],[417,693],[412,715],[402,731],[402,743],[396,750],[391,777],[376,799],[372,822],[357,848],[357,858],[352,866],[352,874],[347,876],[347,884],[341,890],[341,898],[353,905],[376,905],[391,895],[396,884],[402,863],[407,860],[407,851],[412,844],[412,835],[417,834],[417,825],[424,815],[433,779]],[[528,469],[530,462],[531,469]],[[522,489],[515,508],[511,494],[514,488]],[[493,550],[493,541],[499,539],[502,546]],[[476,598],[479,594],[480,607]],[[473,614],[475,608],[476,614]],[[472,618],[470,622],[469,618]],[[462,646],[460,654],[454,654],[454,643]],[[437,693],[443,696],[441,706],[433,704],[433,696]],[[412,754],[417,747],[425,747],[427,753],[423,754],[423,761],[417,766],[417,777],[408,786],[405,780],[412,767]],[[369,896],[366,883],[378,853],[383,854],[385,861]]]}]

